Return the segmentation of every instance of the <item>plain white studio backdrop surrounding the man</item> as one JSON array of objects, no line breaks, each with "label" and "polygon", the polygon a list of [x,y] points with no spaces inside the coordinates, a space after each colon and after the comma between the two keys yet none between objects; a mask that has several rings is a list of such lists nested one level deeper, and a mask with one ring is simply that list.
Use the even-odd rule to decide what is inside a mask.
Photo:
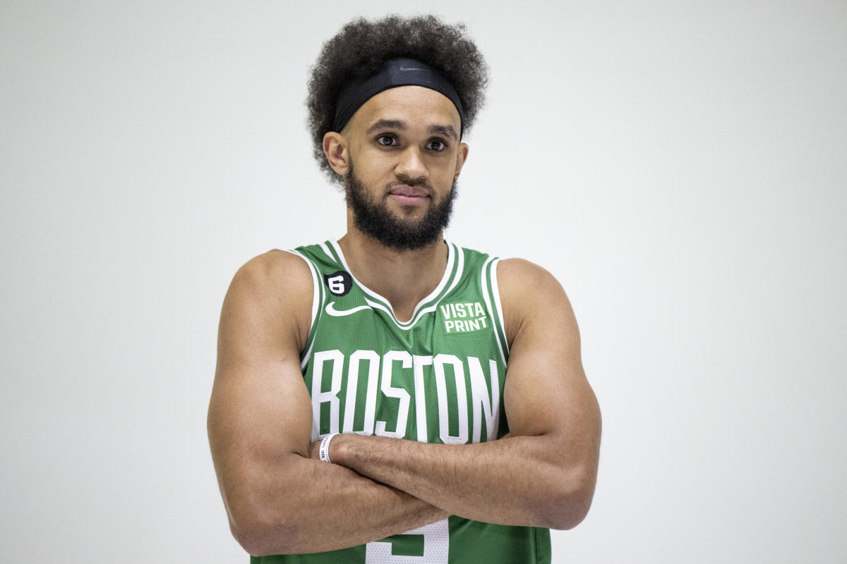
[{"label": "plain white studio backdrop surrounding the man", "polygon": [[[506,5],[426,8],[492,69],[448,237],[562,281],[603,410],[554,562],[845,561],[847,4]],[[314,6],[0,4],[0,561],[246,562],[220,304],[344,232],[307,68],[397,10]]]}]

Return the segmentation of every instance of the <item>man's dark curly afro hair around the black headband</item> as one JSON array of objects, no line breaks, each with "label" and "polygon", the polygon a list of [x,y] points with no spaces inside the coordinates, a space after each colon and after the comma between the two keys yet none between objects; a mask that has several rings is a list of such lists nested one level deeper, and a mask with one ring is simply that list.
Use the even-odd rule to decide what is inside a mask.
[{"label": "man's dark curly afro hair around the black headband", "polygon": [[382,63],[396,57],[427,63],[451,82],[462,101],[464,131],[470,129],[482,107],[488,66],[463,24],[446,25],[432,15],[354,19],[324,43],[308,82],[306,106],[313,155],[331,181],[342,183],[342,178],[329,167],[323,143],[324,134],[333,129],[341,88],[353,79],[368,78]]}]

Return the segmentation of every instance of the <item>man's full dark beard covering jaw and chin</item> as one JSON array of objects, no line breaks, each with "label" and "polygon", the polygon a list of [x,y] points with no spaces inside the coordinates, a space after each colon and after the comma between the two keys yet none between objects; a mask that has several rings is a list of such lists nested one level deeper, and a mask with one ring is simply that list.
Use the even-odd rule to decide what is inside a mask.
[{"label": "man's full dark beard covering jaw and chin", "polygon": [[[418,186],[424,183],[408,182],[407,184]],[[371,198],[368,189],[356,176],[356,172],[353,172],[352,161],[350,170],[344,175],[344,186],[347,205],[353,211],[353,224],[362,233],[394,249],[421,249],[434,243],[450,223],[453,201],[456,200],[456,181],[454,180],[450,194],[430,206],[425,216],[419,219],[397,217],[388,210],[385,199]]]}]

